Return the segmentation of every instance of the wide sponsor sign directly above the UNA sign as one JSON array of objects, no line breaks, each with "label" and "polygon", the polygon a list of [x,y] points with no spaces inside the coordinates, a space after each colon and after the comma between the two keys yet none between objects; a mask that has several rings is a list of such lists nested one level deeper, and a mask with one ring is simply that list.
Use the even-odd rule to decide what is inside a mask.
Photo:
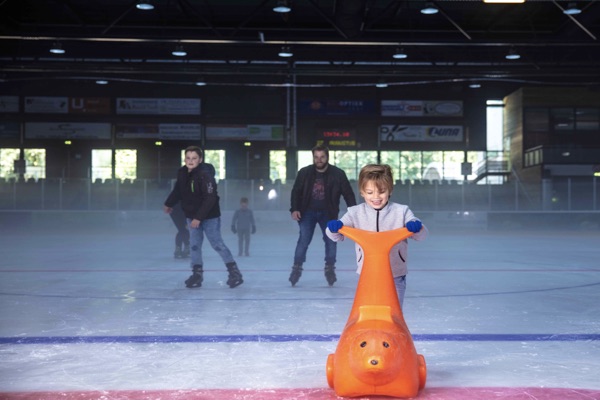
[{"label": "wide sponsor sign directly above the UNA sign", "polygon": [[462,101],[382,100],[383,117],[462,117]]}]

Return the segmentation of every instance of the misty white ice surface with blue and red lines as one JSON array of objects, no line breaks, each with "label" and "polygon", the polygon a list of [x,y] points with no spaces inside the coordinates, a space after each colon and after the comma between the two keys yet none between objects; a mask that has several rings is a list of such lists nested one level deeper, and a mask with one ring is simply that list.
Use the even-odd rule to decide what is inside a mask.
[{"label": "misty white ice surface with blue and red lines", "polygon": [[[159,213],[124,229],[2,227],[0,398],[336,399],[325,365],[358,281],[354,243],[338,245],[329,287],[317,231],[291,287],[297,225],[260,214],[236,257],[244,284],[226,285],[205,242],[204,283],[187,289]],[[600,231],[431,227],[409,257],[419,398],[600,399]]]}]

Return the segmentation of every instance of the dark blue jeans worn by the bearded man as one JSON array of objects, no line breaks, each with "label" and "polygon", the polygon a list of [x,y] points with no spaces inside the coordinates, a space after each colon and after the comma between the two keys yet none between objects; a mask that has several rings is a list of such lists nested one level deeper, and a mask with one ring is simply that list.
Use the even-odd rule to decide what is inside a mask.
[{"label": "dark blue jeans worn by the bearded man", "polygon": [[302,213],[302,218],[298,221],[300,237],[298,238],[298,243],[296,243],[294,264],[302,265],[306,261],[308,245],[312,241],[315,227],[319,224],[321,233],[323,234],[323,242],[325,242],[325,264],[335,265],[337,243],[329,239],[325,234],[327,222],[329,222],[329,218],[325,211],[305,211]]}]

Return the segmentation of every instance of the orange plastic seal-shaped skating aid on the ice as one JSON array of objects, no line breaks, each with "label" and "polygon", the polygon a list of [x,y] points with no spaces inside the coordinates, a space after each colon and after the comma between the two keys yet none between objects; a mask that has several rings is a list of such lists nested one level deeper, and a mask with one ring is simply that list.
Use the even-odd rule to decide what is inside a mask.
[{"label": "orange plastic seal-shaped skating aid on the ice", "polygon": [[391,248],[412,233],[347,226],[340,233],[362,247],[365,259],[350,317],[327,358],[327,382],[341,397],[415,397],[427,368],[404,321],[389,262]]}]

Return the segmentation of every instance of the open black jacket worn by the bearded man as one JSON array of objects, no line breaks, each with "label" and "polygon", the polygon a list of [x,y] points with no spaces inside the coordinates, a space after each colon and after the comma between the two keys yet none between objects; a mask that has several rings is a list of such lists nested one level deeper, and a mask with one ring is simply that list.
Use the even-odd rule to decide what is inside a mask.
[{"label": "open black jacket worn by the bearded man", "polygon": [[[292,188],[292,201],[290,212],[304,213],[308,209],[312,187],[315,183],[317,170],[314,165],[309,165],[298,171],[294,187]],[[356,198],[346,173],[340,168],[329,165],[324,172],[325,202],[329,219],[337,219],[340,213],[340,197],[344,197],[346,207],[356,205]]]}]

